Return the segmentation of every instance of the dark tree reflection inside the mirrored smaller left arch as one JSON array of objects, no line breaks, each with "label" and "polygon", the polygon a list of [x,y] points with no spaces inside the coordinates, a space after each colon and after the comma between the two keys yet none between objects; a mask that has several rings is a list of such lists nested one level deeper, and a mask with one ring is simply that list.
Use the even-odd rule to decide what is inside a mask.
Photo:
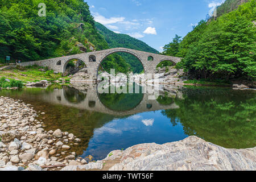
[{"label": "dark tree reflection inside the mirrored smaller left arch", "polygon": [[86,94],[80,92],[79,90],[69,87],[69,86],[63,86],[64,90],[64,97],[68,102],[71,103],[80,103],[81,101],[84,101],[86,98]]}]

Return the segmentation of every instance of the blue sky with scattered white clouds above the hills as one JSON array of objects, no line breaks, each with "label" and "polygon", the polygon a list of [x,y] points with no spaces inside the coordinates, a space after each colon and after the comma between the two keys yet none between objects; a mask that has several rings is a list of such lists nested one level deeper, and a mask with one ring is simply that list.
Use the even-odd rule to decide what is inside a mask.
[{"label": "blue sky with scattered white clouds above the hills", "polygon": [[162,52],[175,34],[184,37],[224,0],[85,0],[96,22]]}]

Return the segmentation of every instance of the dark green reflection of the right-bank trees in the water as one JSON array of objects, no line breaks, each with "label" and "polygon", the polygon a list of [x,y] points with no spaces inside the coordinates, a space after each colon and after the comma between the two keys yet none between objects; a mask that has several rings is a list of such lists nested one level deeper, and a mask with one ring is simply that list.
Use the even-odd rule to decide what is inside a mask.
[{"label": "dark green reflection of the right-bank trees in the water", "polygon": [[172,125],[180,122],[185,134],[223,147],[255,147],[255,92],[208,88],[184,93],[184,100],[175,100],[179,109],[162,111]]}]

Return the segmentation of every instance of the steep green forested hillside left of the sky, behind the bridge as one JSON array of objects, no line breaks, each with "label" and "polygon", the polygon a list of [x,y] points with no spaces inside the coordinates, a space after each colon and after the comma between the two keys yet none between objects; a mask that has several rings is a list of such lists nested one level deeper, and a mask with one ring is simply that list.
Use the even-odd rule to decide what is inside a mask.
[{"label": "steep green forested hillside left of the sky, behind the bridge", "polygon": [[[39,3],[46,4],[46,16],[39,16]],[[0,61],[42,60],[108,49],[98,33],[89,6],[83,0],[0,0]],[[130,65],[119,55],[102,63],[105,69],[127,73]]]}]

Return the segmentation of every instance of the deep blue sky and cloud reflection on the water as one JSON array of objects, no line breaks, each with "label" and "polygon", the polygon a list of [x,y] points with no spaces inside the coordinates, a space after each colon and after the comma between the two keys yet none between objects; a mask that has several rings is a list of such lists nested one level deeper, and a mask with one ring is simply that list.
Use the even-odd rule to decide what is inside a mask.
[{"label": "deep blue sky and cloud reflection on the water", "polygon": [[135,114],[128,118],[114,119],[94,130],[88,148],[82,156],[92,155],[94,159],[104,159],[110,151],[121,150],[139,143],[174,142],[188,137],[183,126],[172,126],[170,119],[161,111]]}]

